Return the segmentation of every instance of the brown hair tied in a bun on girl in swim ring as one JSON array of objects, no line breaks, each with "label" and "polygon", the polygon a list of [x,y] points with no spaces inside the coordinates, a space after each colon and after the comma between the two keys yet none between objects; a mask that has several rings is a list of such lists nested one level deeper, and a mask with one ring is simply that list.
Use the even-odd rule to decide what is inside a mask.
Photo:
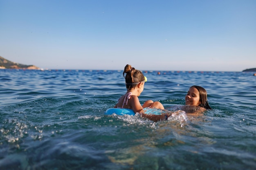
[{"label": "brown hair tied in a bun on girl in swim ring", "polygon": [[[126,73],[126,76],[124,76],[125,73]],[[131,65],[128,65],[128,64],[124,67],[123,76],[125,78],[127,90],[133,89],[138,85],[138,84],[132,84],[132,83],[139,83],[145,80],[144,75],[141,71],[136,70],[135,68],[133,68]]]}]

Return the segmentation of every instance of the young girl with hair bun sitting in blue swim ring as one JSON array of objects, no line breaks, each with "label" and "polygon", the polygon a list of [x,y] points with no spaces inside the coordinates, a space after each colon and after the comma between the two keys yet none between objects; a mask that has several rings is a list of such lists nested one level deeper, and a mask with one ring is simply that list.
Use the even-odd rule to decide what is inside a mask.
[{"label": "young girl with hair bun sitting in blue swim ring", "polygon": [[[124,76],[125,73],[126,76]],[[145,84],[145,77],[141,71],[127,64],[123,76],[125,77],[127,92],[119,98],[114,108],[132,109],[135,113],[143,113],[145,107],[164,109],[160,102],[153,102],[152,100],[146,101],[141,106],[138,96],[143,91]]]}]

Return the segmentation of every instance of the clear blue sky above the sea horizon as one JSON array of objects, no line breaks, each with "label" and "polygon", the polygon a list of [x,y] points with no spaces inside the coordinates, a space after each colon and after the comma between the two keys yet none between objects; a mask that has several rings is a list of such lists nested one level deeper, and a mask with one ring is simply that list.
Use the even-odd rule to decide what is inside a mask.
[{"label": "clear blue sky above the sea horizon", "polygon": [[256,68],[256,0],[0,0],[0,56],[44,69]]}]

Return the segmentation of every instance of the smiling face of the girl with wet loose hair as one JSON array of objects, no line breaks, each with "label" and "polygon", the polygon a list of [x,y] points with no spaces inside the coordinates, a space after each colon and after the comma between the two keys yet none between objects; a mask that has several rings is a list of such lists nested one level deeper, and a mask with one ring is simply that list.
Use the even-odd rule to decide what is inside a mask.
[{"label": "smiling face of the girl with wet loose hair", "polygon": [[200,94],[198,89],[191,87],[185,96],[186,105],[198,106],[200,102]]}]

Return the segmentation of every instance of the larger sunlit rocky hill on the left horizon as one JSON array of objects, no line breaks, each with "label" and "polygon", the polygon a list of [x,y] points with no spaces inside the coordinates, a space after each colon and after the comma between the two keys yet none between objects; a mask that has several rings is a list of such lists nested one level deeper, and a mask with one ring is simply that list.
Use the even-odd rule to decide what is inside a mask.
[{"label": "larger sunlit rocky hill on the left horizon", "polygon": [[38,70],[40,68],[36,67],[35,65],[24,65],[19,63],[14,63],[7,59],[4,59],[0,56],[0,69],[31,69],[31,70]]}]

